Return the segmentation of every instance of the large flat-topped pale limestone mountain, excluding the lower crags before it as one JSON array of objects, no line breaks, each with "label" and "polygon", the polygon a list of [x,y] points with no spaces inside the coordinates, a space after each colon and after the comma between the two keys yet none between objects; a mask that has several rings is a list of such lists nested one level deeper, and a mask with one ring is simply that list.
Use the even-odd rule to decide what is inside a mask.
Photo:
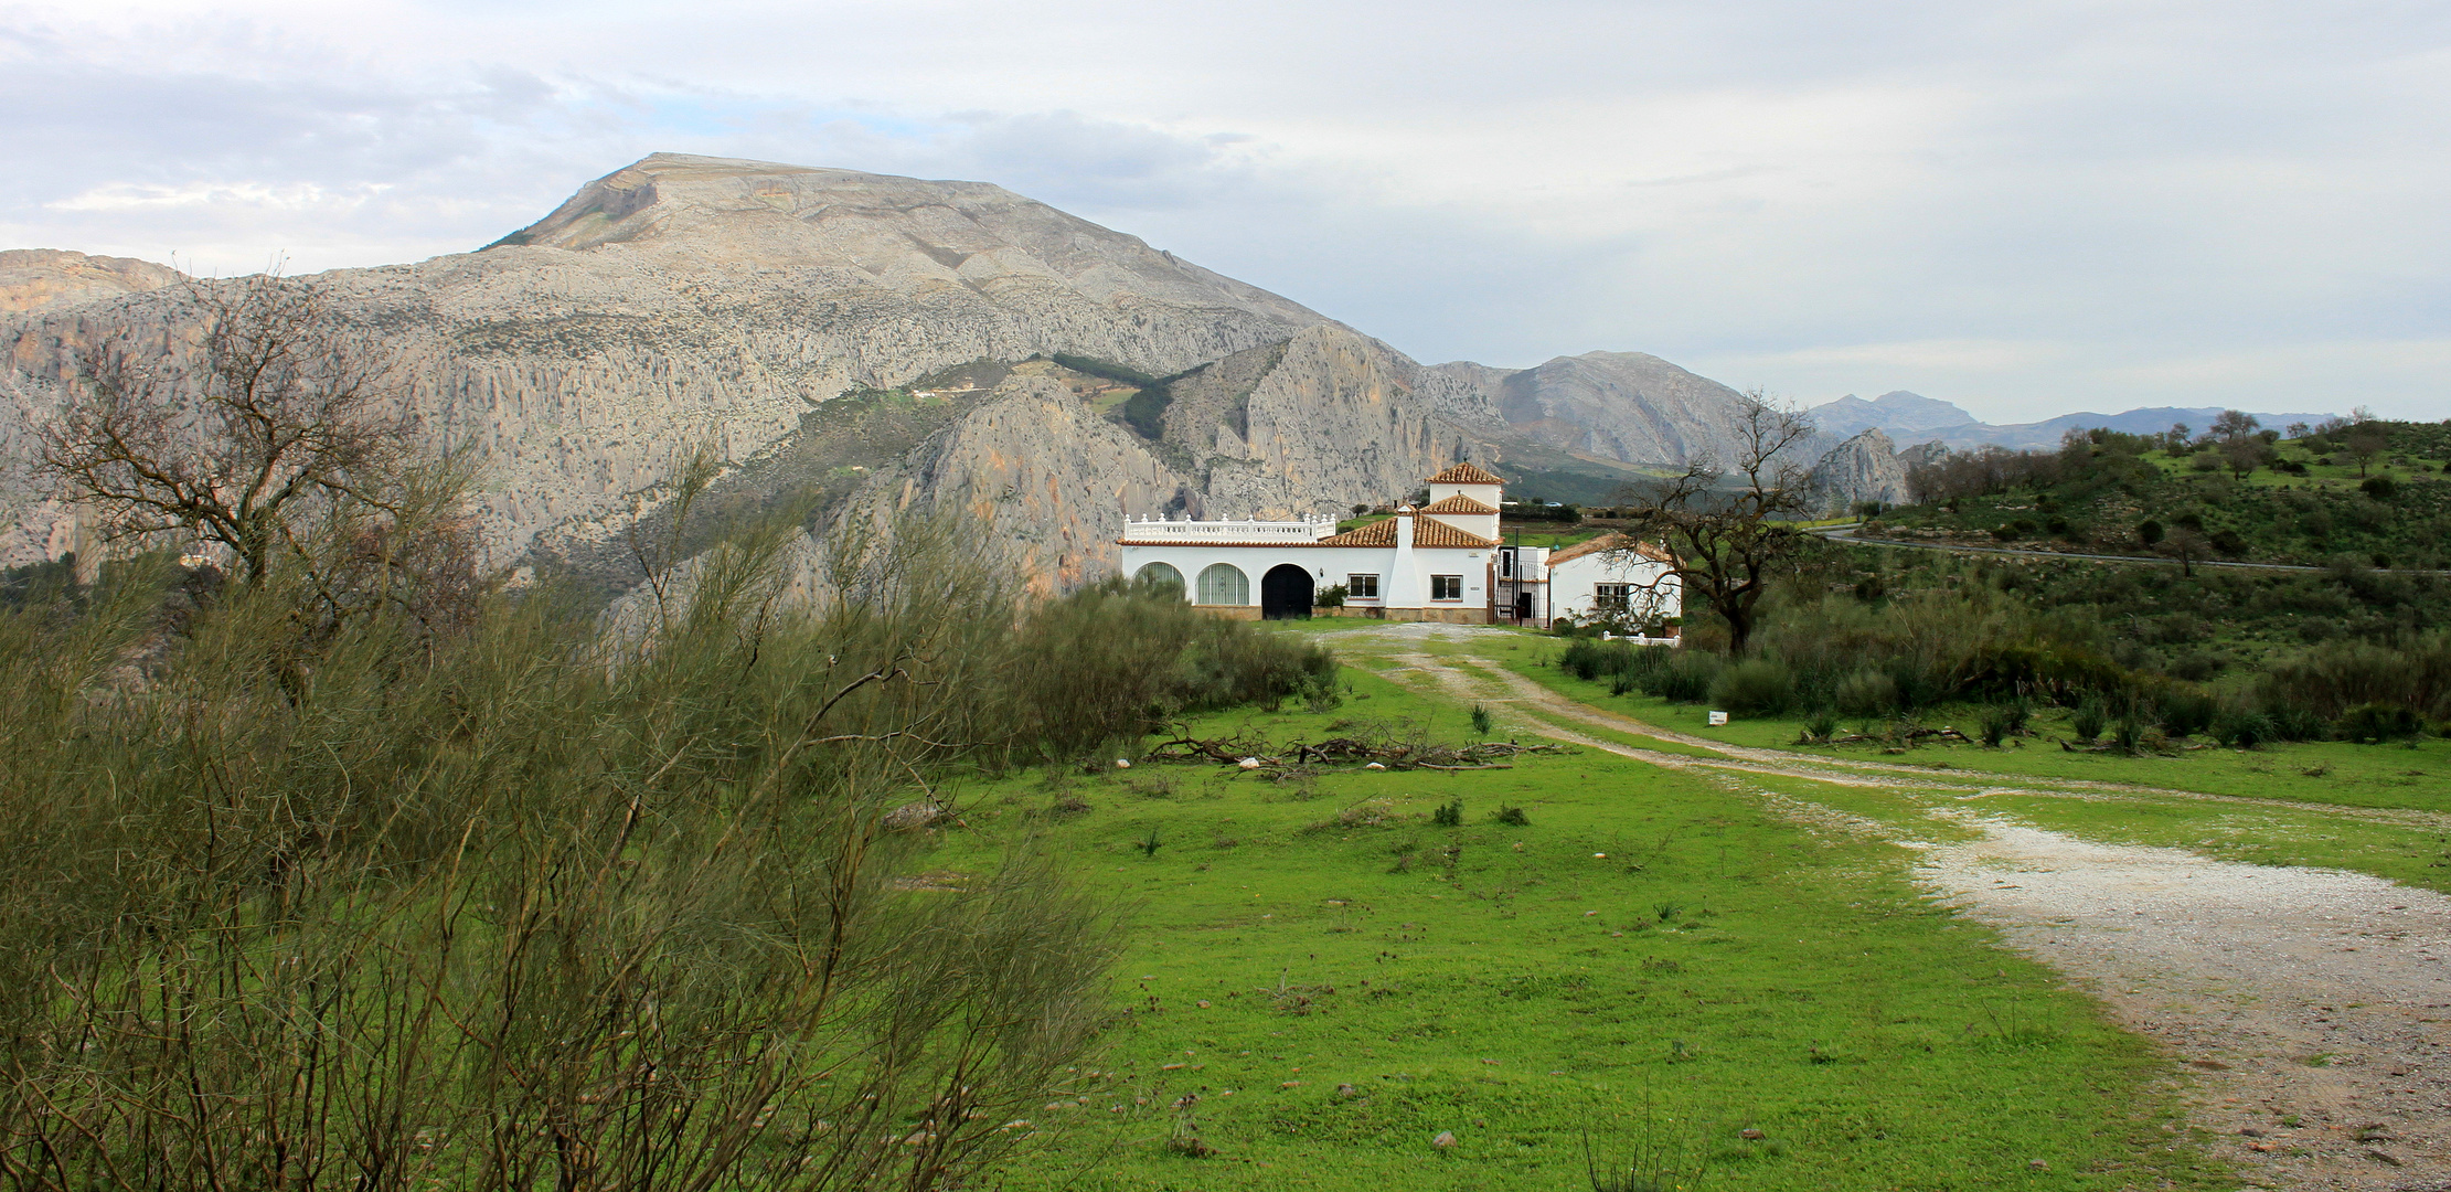
[{"label": "large flat-topped pale limestone mountain, excluding the lower crags before it", "polygon": [[[174,289],[142,292],[154,275],[59,258],[20,285],[51,297],[0,314],[0,451],[20,471],[0,476],[0,564],[61,540],[22,464],[74,351],[191,324]],[[59,299],[96,270],[127,292]],[[676,155],[480,253],[316,282],[400,363],[434,439],[485,456],[475,515],[502,559],[610,525],[686,446],[750,459],[855,385],[1056,351],[1174,373],[1326,324],[998,186]]]}]

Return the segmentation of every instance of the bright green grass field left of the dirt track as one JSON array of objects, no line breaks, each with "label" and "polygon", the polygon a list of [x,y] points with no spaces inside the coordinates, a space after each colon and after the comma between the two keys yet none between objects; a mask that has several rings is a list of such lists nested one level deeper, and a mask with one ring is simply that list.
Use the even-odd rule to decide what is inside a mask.
[{"label": "bright green grass field left of the dirt track", "polygon": [[[1191,731],[1468,731],[1458,704],[1346,674],[1333,711]],[[2223,1185],[2176,1126],[2174,1064],[1926,903],[1904,849],[1701,777],[1576,751],[961,797],[975,831],[934,868],[1034,841],[1127,905],[1108,1052],[1015,1126],[1047,1143],[1015,1190],[1578,1190],[1586,1138],[1686,1172],[1662,1187],[1694,1165],[1748,1190]],[[1451,800],[1461,827],[1436,827]],[[1169,1148],[1186,1136],[1213,1155]]]}]

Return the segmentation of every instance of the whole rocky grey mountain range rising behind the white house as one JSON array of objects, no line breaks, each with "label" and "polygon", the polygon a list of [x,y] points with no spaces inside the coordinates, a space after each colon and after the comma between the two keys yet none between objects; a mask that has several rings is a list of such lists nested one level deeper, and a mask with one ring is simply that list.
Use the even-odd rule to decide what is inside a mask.
[{"label": "whole rocky grey mountain range rising behind the white house", "polygon": [[[480,451],[473,515],[495,562],[608,581],[623,527],[694,444],[733,461],[733,508],[821,493],[819,532],[961,508],[1061,586],[1108,569],[1135,515],[1341,513],[1456,459],[1603,493],[1645,464],[1726,456],[1738,400],[1642,353],[1422,365],[1000,186],[718,157],[652,155],[483,250],[316,280],[397,361],[429,434]],[[93,547],[29,473],[32,432],[81,346],[184,351],[176,282],[115,258],[0,255],[0,564]],[[1010,368],[1051,353],[1172,375],[1159,434]],[[980,361],[995,383],[956,400],[833,407]],[[1855,464],[1846,476],[1877,471]]]}]

